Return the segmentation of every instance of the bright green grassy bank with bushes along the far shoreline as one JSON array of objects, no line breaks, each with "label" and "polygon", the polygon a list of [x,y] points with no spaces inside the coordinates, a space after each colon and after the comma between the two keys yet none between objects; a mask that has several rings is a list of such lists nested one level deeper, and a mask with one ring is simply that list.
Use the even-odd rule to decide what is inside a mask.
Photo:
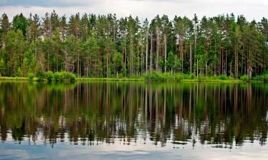
[{"label": "bright green grassy bank with bushes along the far shoreline", "polygon": [[59,72],[39,74],[29,74],[28,78],[11,78],[0,77],[0,80],[29,80],[29,81],[41,81],[41,82],[74,82],[74,81],[161,81],[161,82],[268,82],[268,74],[257,75],[252,79],[249,79],[247,75],[242,75],[239,79],[229,77],[227,75],[219,76],[195,76],[193,74],[184,73],[158,73],[144,74],[140,77],[132,78],[77,78],[73,73]]}]

